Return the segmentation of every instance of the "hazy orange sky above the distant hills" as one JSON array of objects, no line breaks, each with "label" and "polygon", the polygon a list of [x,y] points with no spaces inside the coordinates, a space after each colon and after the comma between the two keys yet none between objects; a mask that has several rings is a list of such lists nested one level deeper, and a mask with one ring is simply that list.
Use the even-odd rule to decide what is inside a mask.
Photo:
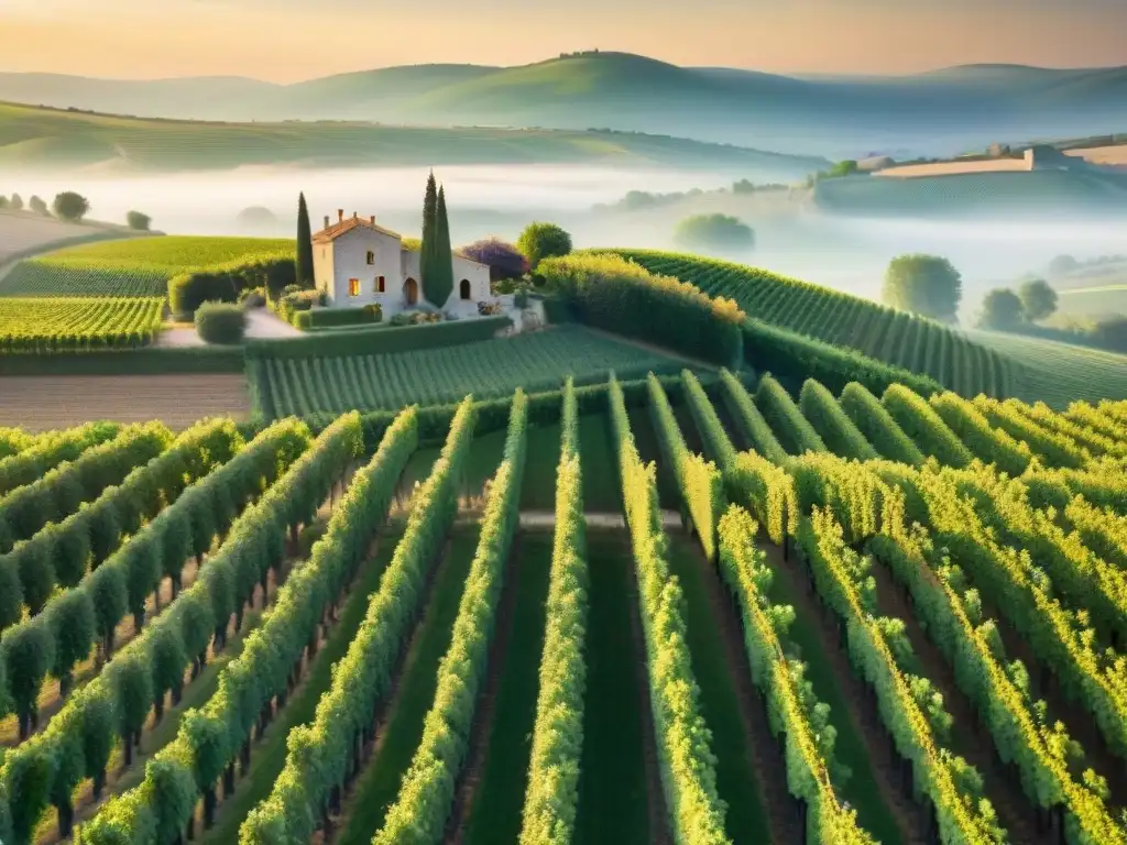
[{"label": "hazy orange sky above the distant hills", "polygon": [[598,47],[775,73],[1127,64],[1127,0],[0,0],[0,71],[278,82]]}]

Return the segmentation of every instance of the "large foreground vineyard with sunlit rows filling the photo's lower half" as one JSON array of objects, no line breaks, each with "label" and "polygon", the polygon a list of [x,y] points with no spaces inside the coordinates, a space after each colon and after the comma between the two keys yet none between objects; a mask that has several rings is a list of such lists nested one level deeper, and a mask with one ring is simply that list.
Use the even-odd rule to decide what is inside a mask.
[{"label": "large foreground vineyard with sunlit rows filling the photo's lower half", "polygon": [[0,432],[0,839],[1124,842],[1127,403],[502,365]]}]

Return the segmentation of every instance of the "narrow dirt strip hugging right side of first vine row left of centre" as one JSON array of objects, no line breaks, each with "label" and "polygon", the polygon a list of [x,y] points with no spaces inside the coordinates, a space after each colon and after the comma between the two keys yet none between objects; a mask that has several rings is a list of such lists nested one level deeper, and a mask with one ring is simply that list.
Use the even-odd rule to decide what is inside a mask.
[{"label": "narrow dirt strip hugging right side of first vine row left of centre", "polygon": [[446,845],[462,845],[465,836],[465,824],[473,812],[473,799],[477,794],[481,775],[485,772],[486,757],[489,751],[489,739],[492,736],[495,714],[497,711],[497,692],[505,674],[508,643],[513,637],[513,623],[516,619],[516,597],[520,595],[520,579],[524,567],[521,564],[521,534],[513,537],[505,566],[505,582],[497,605],[497,619],[494,624],[492,641],[489,643],[488,669],[486,683],[478,691],[478,706],[473,714],[473,727],[470,729],[470,747],[465,755],[460,782],[454,792],[454,806],[446,819]]}]

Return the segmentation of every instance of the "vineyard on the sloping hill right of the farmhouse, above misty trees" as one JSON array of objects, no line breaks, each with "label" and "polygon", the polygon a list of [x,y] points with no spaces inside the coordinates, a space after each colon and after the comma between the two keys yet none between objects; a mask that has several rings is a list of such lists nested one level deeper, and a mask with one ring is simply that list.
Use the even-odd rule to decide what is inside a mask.
[{"label": "vineyard on the sloping hill right of the farmhouse, above misty trees", "polygon": [[651,273],[733,299],[753,321],[779,326],[922,373],[965,397],[1013,395],[1010,359],[932,320],[820,285],[698,256],[614,250]]}]

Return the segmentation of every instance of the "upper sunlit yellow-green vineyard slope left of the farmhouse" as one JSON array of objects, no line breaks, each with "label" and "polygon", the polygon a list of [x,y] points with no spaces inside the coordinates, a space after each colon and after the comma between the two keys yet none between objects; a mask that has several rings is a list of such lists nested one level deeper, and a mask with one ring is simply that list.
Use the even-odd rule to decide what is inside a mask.
[{"label": "upper sunlit yellow-green vineyard slope left of the farmhouse", "polygon": [[0,297],[163,297],[179,273],[283,252],[293,252],[292,241],[168,235],[92,243],[20,261],[0,281]]}]

